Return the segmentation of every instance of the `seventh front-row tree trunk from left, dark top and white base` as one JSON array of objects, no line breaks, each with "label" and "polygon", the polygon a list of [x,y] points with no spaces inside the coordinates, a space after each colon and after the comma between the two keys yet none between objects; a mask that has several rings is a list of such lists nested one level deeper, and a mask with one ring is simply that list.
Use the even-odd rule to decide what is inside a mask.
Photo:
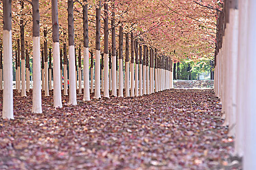
[{"label": "seventh front-row tree trunk from left, dark top and white base", "polygon": [[108,56],[108,4],[107,0],[104,3],[104,94],[103,96],[109,98],[109,56]]}]

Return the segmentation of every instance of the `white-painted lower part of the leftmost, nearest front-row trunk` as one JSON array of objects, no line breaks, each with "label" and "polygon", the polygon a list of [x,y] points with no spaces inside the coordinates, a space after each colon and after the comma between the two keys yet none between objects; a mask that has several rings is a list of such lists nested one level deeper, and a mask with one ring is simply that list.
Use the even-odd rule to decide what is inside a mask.
[{"label": "white-painted lower part of the leftmost, nearest front-row trunk", "polygon": [[13,70],[12,70],[12,31],[3,30],[3,106],[2,118],[13,117]]}]

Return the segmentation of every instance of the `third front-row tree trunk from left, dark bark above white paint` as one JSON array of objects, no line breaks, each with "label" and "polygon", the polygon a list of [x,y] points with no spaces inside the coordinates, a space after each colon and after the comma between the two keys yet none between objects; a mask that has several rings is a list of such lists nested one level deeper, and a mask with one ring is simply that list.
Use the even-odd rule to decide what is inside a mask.
[{"label": "third front-row tree trunk from left, dark bark above white paint", "polygon": [[[60,56],[59,56],[59,20],[58,0],[52,0],[52,27],[53,27],[53,106],[62,107],[61,102],[61,79]],[[51,56],[50,56],[51,57]],[[62,58],[62,56],[61,56]]]}]

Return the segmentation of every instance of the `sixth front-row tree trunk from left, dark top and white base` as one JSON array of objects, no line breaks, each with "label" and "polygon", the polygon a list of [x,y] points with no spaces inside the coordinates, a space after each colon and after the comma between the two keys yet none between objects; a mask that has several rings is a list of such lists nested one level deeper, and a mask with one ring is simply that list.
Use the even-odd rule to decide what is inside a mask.
[{"label": "sixth front-row tree trunk from left, dark top and white base", "polygon": [[101,1],[98,1],[96,7],[96,55],[95,55],[95,94],[96,99],[101,98],[100,96],[100,5]]}]

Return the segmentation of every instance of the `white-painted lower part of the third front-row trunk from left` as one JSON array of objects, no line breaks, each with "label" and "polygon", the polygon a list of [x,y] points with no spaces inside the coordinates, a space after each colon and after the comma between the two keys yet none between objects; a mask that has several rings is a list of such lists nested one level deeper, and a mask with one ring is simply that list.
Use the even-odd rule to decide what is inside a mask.
[{"label": "white-painted lower part of the third front-row trunk from left", "polygon": [[[61,82],[60,77],[60,58],[59,58],[59,42],[53,43],[53,106],[62,107],[61,102]],[[51,83],[51,82],[50,82]]]}]

